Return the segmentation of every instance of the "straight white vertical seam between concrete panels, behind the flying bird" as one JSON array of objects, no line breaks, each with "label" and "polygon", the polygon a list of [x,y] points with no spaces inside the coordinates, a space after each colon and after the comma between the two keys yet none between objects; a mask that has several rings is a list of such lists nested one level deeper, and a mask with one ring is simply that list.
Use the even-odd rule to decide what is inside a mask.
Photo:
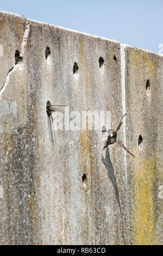
[{"label": "straight white vertical seam between concrete panels, behind the flying bird", "polygon": [[[122,111],[123,115],[126,114],[126,89],[125,89],[125,51],[126,45],[120,44],[121,46],[121,84],[122,84]],[[123,119],[123,141],[126,147],[126,116]],[[125,179],[127,185],[127,160],[126,160],[126,150],[124,152],[124,170],[125,170]]]}]

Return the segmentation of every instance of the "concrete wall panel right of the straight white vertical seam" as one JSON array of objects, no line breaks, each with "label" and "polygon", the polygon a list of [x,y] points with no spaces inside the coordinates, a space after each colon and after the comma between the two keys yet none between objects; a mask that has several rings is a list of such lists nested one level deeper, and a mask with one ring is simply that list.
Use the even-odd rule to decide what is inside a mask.
[{"label": "concrete wall panel right of the straight white vertical seam", "polygon": [[162,59],[157,54],[126,47],[126,136],[127,146],[137,157],[127,160],[130,242],[137,245],[162,243],[157,230],[162,214],[158,196],[162,182]]}]

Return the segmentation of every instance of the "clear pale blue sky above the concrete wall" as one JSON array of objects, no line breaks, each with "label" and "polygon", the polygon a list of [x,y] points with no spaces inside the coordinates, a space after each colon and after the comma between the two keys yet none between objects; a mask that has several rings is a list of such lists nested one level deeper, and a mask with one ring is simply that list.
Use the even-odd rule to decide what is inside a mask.
[{"label": "clear pale blue sky above the concrete wall", "polygon": [[0,9],[154,52],[163,44],[163,0],[0,0]]}]

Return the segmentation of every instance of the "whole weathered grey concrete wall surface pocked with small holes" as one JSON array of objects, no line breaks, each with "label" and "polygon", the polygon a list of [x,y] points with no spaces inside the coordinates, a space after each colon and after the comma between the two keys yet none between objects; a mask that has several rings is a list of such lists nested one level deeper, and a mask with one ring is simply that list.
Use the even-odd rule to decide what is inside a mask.
[{"label": "whole weathered grey concrete wall surface pocked with small holes", "polygon": [[[0,44],[1,244],[162,244],[163,57],[5,12]],[[54,132],[48,100],[111,111],[112,127],[127,112],[119,136],[137,158],[102,151],[101,131]]]}]

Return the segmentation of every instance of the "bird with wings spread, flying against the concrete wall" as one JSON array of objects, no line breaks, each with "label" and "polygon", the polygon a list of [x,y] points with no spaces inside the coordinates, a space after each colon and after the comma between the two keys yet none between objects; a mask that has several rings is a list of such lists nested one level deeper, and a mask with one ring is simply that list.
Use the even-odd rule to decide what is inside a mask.
[{"label": "bird with wings spread, flying against the concrete wall", "polygon": [[[126,115],[126,114],[124,114],[124,115]],[[123,115],[123,117],[124,117],[124,115]],[[122,118],[123,118],[122,117]],[[118,130],[120,130],[120,127],[121,127],[121,125],[122,125],[122,118],[121,118],[121,121],[120,121],[120,124],[118,125],[118,127],[117,127],[117,130],[115,131],[115,130],[113,130],[113,129],[110,129],[109,130],[109,135],[108,135],[108,138],[107,138],[107,140],[106,140],[106,142],[105,142],[105,147],[103,148],[103,150],[106,148],[106,147],[108,147],[109,145],[111,145],[111,144],[113,144],[113,143],[117,143],[117,146],[119,147],[119,148],[123,148],[123,149],[125,149],[131,156],[134,156],[132,153],[130,153],[130,151],[123,145],[123,143],[120,141],[120,139],[117,139],[117,131]],[[135,156],[134,156],[135,157]]]}]

